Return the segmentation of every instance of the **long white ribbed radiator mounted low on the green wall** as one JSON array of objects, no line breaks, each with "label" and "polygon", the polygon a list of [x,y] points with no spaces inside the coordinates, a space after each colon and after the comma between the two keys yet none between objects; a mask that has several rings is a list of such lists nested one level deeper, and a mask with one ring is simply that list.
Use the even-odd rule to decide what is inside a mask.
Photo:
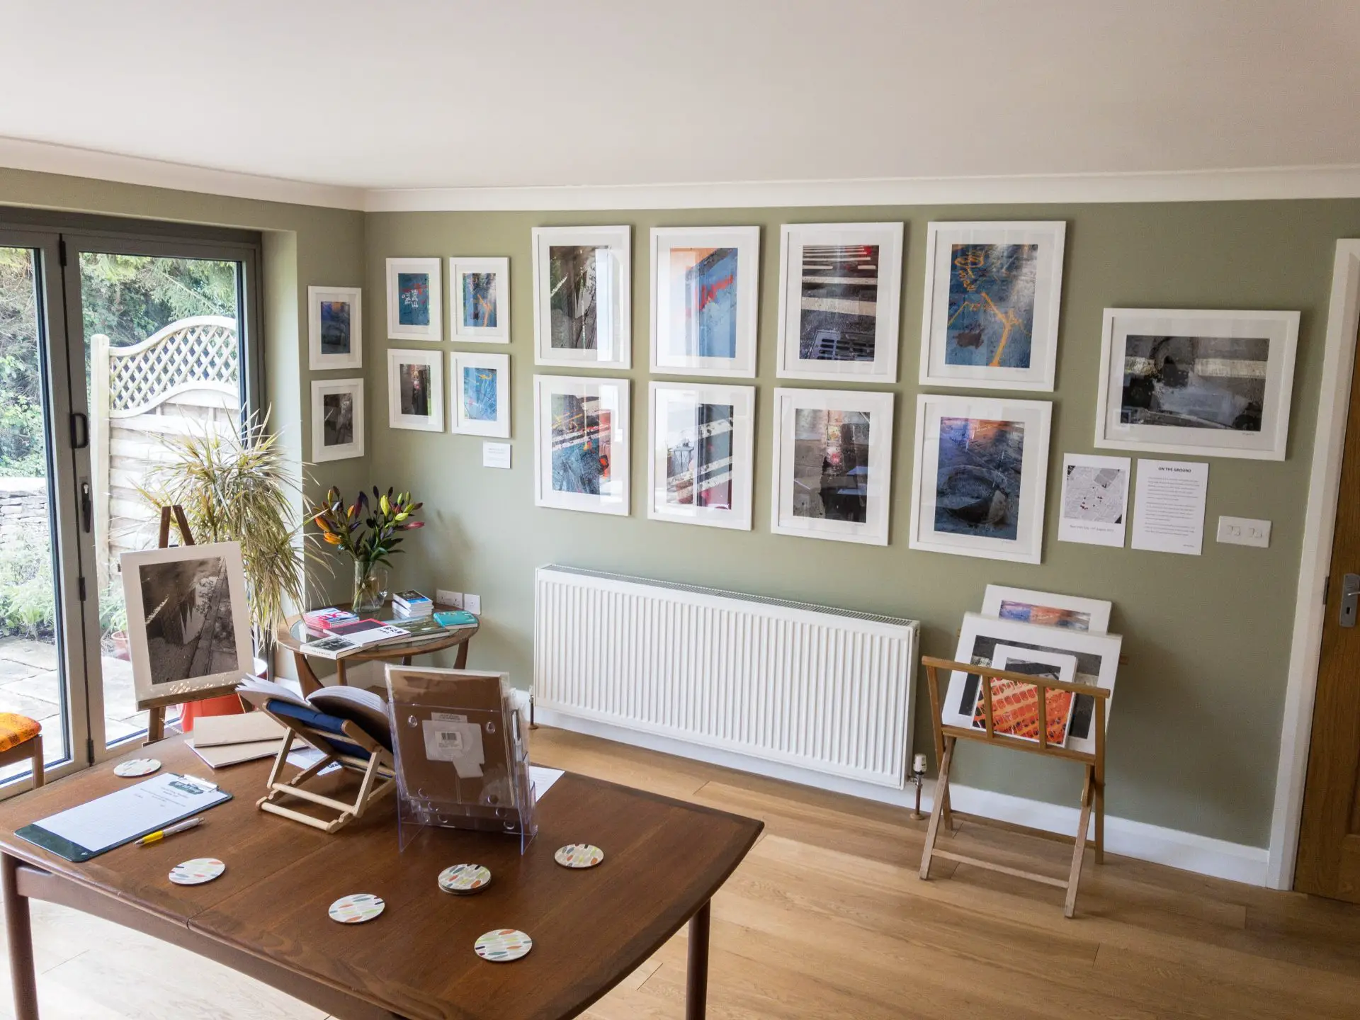
[{"label": "long white ribbed radiator mounted low on the green wall", "polygon": [[537,707],[902,789],[918,624],[541,567]]}]

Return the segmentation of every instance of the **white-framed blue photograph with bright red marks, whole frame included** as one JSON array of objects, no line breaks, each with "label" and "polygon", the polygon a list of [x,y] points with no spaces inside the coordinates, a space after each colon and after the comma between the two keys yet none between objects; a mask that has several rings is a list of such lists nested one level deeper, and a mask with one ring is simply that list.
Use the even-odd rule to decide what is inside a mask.
[{"label": "white-framed blue photograph with bright red marks, whole frame included", "polygon": [[651,371],[756,377],[760,227],[654,227]]}]

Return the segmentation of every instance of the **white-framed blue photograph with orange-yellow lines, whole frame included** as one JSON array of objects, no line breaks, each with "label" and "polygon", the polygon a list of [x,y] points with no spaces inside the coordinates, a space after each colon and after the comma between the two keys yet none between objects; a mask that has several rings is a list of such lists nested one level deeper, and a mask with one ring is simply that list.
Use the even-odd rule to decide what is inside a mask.
[{"label": "white-framed blue photograph with orange-yellow lines, whole frame included", "polygon": [[921,385],[1053,392],[1066,228],[926,227]]}]

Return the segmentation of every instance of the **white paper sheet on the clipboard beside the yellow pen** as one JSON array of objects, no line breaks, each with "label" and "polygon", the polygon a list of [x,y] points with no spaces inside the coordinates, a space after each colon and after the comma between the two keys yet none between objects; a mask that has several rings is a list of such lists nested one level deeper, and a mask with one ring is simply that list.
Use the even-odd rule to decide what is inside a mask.
[{"label": "white paper sheet on the clipboard beside the yellow pen", "polygon": [[39,819],[34,824],[97,853],[143,832],[154,832],[223,800],[215,786],[166,772]]}]

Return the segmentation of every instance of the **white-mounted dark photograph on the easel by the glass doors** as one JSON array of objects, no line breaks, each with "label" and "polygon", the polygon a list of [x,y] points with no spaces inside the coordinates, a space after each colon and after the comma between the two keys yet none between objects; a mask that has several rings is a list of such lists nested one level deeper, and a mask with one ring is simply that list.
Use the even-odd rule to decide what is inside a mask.
[{"label": "white-mounted dark photograph on the easel by the glass doors", "polygon": [[124,552],[118,562],[139,709],[254,672],[239,544]]}]

